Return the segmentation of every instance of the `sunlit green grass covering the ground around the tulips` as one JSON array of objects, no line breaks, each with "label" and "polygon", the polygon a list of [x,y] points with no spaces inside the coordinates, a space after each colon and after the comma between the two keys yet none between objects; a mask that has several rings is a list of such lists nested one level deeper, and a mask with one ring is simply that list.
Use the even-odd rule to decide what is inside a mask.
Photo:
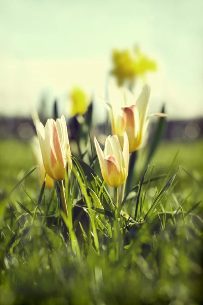
[{"label": "sunlit green grass covering the ground around the tulips", "polygon": [[[73,162],[65,186],[72,223],[59,185],[40,192],[37,170],[9,195],[35,161],[26,143],[0,144],[0,304],[201,303],[202,141],[161,143],[143,179],[140,151],[139,185],[121,216],[112,188]],[[98,161],[94,169],[100,174]]]}]

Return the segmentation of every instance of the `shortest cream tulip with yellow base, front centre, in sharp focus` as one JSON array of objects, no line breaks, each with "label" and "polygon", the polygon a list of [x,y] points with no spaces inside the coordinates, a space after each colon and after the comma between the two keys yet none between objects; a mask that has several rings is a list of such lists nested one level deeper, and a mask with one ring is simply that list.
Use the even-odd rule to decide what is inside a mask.
[{"label": "shortest cream tulip with yellow base, front centre, in sharp focus", "polygon": [[124,133],[124,148],[121,149],[116,135],[106,138],[104,153],[95,137],[95,147],[104,181],[111,187],[118,188],[128,176],[129,143]]}]

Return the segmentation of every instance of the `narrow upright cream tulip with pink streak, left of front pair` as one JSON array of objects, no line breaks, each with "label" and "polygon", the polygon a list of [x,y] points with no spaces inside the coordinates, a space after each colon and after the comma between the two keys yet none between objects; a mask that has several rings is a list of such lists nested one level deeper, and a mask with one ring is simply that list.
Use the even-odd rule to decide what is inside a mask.
[{"label": "narrow upright cream tulip with pink streak, left of front pair", "polygon": [[48,119],[45,127],[36,121],[36,131],[47,174],[61,181],[66,177],[66,166],[71,171],[72,161],[64,115],[57,120]]}]

